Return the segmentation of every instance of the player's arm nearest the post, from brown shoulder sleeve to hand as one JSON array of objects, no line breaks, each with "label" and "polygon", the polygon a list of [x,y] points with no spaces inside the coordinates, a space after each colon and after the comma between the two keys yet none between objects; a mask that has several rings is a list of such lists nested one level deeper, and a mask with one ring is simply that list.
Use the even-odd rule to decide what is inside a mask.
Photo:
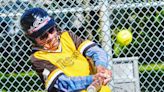
[{"label": "player's arm nearest the post, from brown shoulder sleeve to hand", "polygon": [[[97,70],[99,73],[104,73],[106,75],[106,79],[103,84],[105,85],[111,79],[111,71],[107,69],[108,64],[108,54],[101,47],[99,47],[96,43],[84,40],[73,33],[70,32],[70,35],[75,43],[76,48],[83,54],[85,57],[89,57],[92,60],[89,60],[90,66],[92,68],[93,74]],[[93,63],[92,63],[93,62]],[[94,69],[96,66],[97,69]]]}]

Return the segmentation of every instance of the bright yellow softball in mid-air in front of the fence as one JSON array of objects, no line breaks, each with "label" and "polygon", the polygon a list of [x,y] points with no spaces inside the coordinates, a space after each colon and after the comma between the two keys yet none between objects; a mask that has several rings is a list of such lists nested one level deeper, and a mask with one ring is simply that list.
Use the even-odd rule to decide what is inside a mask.
[{"label": "bright yellow softball in mid-air in front of the fence", "polygon": [[127,29],[121,30],[117,34],[117,41],[123,46],[129,45],[132,41],[132,33]]}]

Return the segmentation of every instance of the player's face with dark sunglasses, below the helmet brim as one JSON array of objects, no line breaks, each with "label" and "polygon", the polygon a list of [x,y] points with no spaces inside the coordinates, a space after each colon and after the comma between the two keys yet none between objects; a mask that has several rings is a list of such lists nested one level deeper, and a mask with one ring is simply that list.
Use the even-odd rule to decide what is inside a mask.
[{"label": "player's face with dark sunglasses, below the helmet brim", "polygon": [[45,50],[56,50],[59,46],[59,35],[55,28],[49,29],[42,36],[35,39],[37,44]]}]

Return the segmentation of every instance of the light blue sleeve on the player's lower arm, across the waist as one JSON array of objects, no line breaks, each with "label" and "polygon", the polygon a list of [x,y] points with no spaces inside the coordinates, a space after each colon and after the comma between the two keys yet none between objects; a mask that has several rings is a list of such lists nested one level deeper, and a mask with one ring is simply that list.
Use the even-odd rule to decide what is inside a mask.
[{"label": "light blue sleeve on the player's lower arm, across the waist", "polygon": [[54,87],[67,92],[80,91],[86,89],[93,81],[93,76],[68,77],[61,75],[56,80]]}]

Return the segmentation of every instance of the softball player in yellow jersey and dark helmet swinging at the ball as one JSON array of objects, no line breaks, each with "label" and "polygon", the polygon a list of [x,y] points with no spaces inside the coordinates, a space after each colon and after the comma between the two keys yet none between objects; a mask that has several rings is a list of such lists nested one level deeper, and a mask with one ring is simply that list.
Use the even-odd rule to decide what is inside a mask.
[{"label": "softball player in yellow jersey and dark helmet swinging at the ball", "polygon": [[48,92],[86,91],[91,84],[96,91],[110,91],[108,55],[96,43],[61,31],[41,8],[26,10],[20,25],[33,42],[32,67]]}]

